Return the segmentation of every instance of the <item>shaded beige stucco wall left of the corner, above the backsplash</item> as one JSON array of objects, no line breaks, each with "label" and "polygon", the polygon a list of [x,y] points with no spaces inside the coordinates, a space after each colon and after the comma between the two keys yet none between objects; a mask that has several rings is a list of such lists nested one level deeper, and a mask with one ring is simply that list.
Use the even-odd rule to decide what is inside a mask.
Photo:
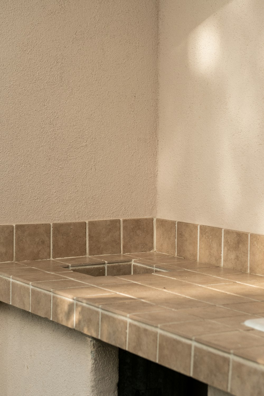
[{"label": "shaded beige stucco wall left of the corner, above the backsplash", "polygon": [[0,224],[155,214],[157,10],[0,2]]}]

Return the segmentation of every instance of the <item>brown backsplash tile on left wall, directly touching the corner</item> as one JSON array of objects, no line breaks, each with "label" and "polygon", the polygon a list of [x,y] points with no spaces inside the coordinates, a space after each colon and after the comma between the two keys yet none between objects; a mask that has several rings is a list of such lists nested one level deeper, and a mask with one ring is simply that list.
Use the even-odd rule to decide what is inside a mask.
[{"label": "brown backsplash tile on left wall, directly touching the corner", "polygon": [[153,250],[153,218],[123,219],[122,244],[123,253]]}]

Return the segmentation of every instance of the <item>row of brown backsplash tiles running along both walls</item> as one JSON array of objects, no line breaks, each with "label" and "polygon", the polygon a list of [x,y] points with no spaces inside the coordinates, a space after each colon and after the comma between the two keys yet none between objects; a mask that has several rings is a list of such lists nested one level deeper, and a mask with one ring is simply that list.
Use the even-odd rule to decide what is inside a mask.
[{"label": "row of brown backsplash tiles running along both walls", "polygon": [[152,217],[0,225],[0,262],[149,251],[264,275],[264,235]]}]

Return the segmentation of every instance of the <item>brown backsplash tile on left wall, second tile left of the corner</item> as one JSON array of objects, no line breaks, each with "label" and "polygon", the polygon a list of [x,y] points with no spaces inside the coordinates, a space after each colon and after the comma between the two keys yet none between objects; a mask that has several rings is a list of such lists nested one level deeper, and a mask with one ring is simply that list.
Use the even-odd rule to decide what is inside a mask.
[{"label": "brown backsplash tile on left wall, second tile left of the corner", "polygon": [[90,256],[120,253],[120,219],[89,221],[88,240]]}]

